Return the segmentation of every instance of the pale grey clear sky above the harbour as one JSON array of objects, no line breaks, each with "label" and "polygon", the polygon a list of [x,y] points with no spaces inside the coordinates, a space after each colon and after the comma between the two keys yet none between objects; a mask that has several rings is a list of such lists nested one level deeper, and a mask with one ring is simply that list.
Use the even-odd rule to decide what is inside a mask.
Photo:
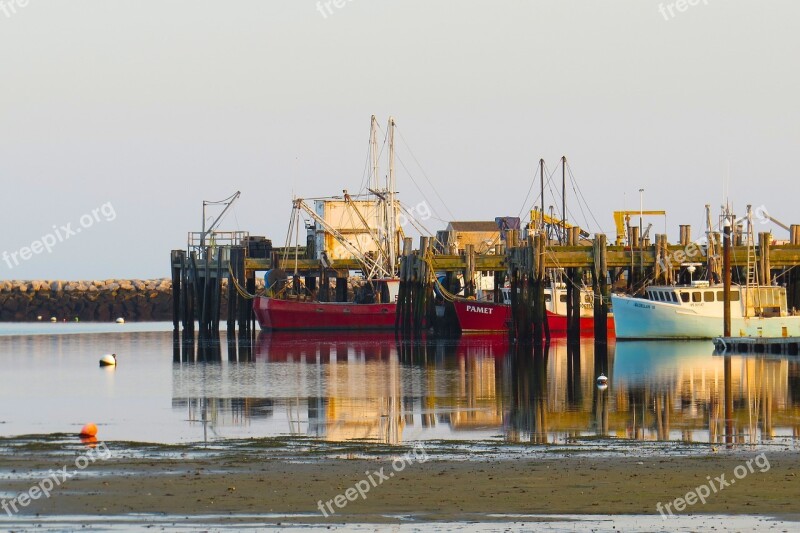
[{"label": "pale grey clear sky above the harbour", "polygon": [[327,3],[0,0],[0,279],[167,277],[237,190],[220,229],[282,245],[293,196],[360,190],[373,114],[434,232],[524,217],[562,156],[592,233],[800,223],[797,0]]}]

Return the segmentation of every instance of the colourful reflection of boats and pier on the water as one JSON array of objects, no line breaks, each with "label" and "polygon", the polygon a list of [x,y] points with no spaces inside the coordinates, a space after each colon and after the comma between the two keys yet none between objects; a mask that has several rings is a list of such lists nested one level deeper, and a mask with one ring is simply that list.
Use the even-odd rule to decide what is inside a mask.
[{"label": "colourful reflection of boats and pier on the water", "polygon": [[[261,333],[244,361],[176,363],[173,407],[219,437],[725,442],[725,362],[711,352],[706,342],[620,342],[596,356],[591,340],[535,353],[504,335]],[[797,362],[732,357],[729,374],[732,441],[798,437]]]}]

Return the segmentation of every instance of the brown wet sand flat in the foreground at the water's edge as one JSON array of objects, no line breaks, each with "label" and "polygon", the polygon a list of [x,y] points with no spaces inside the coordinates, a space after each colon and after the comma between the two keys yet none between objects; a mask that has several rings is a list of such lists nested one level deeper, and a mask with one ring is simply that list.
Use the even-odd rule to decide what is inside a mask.
[{"label": "brown wet sand flat in the foreground at the water's edge", "polygon": [[[707,476],[724,474],[734,483],[712,493],[704,505],[698,502],[680,514],[800,518],[800,454],[780,447],[764,452],[768,471],[760,471],[761,462],[761,468],[754,464],[753,473],[736,479],[736,467],[761,450],[700,448],[690,456],[637,456],[636,445],[623,454],[562,453],[539,446],[470,460],[433,452],[426,462],[406,464],[395,472],[392,460],[408,449],[386,447],[382,454],[362,445],[376,455],[352,458],[354,448],[342,453],[328,444],[315,444],[313,450],[262,446],[207,452],[107,443],[110,458],[77,471],[74,460],[85,452],[80,445],[14,442],[2,443],[2,498],[27,491],[50,469],[67,465],[75,471],[49,498],[21,508],[20,516],[156,513],[233,515],[228,521],[235,521],[235,515],[273,514],[263,520],[306,524],[388,523],[401,516],[420,521],[492,520],[490,514],[658,516],[658,502],[671,502],[708,483]],[[380,468],[384,475],[394,475],[381,482],[376,474]],[[342,496],[346,504],[337,507],[336,496],[368,480],[367,472],[374,484],[366,498],[349,501]],[[333,500],[328,509],[336,512],[325,517],[318,502],[325,506],[328,500]]]}]

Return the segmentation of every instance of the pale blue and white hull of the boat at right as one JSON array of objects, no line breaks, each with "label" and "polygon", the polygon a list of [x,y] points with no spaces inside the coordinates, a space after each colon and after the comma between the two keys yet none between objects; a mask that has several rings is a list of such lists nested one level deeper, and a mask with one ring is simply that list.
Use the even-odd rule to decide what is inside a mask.
[{"label": "pale blue and white hull of the boat at right", "polygon": [[[611,296],[618,339],[713,339],[723,334],[722,316],[643,298]],[[800,316],[731,317],[731,334],[740,337],[800,337]],[[741,313],[739,313],[741,314]]]}]

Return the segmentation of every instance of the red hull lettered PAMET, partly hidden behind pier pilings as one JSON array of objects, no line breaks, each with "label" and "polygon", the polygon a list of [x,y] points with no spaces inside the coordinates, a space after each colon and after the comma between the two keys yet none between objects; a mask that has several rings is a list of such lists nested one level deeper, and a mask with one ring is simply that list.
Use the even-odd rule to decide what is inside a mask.
[{"label": "red hull lettered PAMET, partly hidden behind pier pilings", "polygon": [[[455,300],[453,306],[462,333],[507,332],[511,327],[511,306],[494,302],[475,300]],[[550,333],[565,334],[567,317],[547,311],[547,325]],[[608,317],[607,329],[613,335],[614,317]],[[594,317],[581,317],[581,335],[594,334]]]}]

